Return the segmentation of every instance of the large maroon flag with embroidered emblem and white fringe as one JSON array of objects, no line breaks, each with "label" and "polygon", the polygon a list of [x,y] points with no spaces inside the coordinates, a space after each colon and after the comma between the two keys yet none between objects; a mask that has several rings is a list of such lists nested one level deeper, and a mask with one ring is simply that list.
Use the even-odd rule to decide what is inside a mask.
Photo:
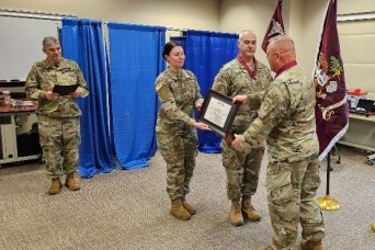
[{"label": "large maroon flag with embroidered emblem and white fringe", "polygon": [[319,160],[329,154],[349,126],[345,77],[337,27],[337,0],[328,0],[314,70]]}]

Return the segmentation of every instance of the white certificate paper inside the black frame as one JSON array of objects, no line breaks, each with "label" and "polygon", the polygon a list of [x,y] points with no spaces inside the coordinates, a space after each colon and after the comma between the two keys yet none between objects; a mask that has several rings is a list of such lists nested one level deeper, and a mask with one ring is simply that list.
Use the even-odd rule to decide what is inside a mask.
[{"label": "white certificate paper inside the black frame", "polygon": [[208,103],[206,113],[204,114],[204,118],[219,127],[224,127],[225,122],[228,118],[230,109],[230,104],[212,98]]}]

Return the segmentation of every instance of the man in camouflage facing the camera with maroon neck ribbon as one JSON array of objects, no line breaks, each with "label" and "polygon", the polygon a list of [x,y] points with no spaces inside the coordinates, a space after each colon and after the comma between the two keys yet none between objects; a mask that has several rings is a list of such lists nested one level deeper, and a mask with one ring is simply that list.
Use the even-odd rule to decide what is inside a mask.
[{"label": "man in camouflage facing the camera with maroon neck ribbon", "polygon": [[[242,134],[257,117],[257,110],[272,77],[270,69],[254,57],[257,36],[252,31],[240,33],[238,47],[239,55],[220,69],[213,90],[227,96],[251,95],[251,101],[240,106],[231,126],[231,133]],[[257,221],[260,215],[251,205],[251,196],[258,188],[264,143],[260,141],[250,154],[237,152],[226,140],[223,140],[221,148],[223,166],[227,173],[227,196],[231,200],[230,221],[236,226],[242,225],[242,212],[251,221]]]}]

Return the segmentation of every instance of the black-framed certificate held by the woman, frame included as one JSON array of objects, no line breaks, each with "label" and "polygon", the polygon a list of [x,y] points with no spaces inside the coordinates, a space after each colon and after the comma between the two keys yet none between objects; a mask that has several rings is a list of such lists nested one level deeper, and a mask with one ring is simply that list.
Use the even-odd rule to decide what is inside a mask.
[{"label": "black-framed certificate held by the woman, frame included", "polygon": [[207,124],[221,137],[231,137],[230,126],[239,106],[239,102],[232,103],[231,98],[209,89],[204,99],[198,121]]}]

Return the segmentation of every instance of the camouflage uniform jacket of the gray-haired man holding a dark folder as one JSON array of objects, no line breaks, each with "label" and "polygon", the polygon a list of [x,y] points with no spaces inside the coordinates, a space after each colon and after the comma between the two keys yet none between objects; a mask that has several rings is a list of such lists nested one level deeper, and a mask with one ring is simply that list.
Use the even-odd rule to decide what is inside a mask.
[{"label": "camouflage uniform jacket of the gray-haired man holding a dark folder", "polygon": [[38,101],[38,114],[49,117],[76,117],[81,111],[75,99],[58,96],[49,101],[45,98],[55,84],[73,86],[79,84],[80,96],[89,95],[89,90],[79,66],[72,61],[61,58],[58,66],[49,64],[47,59],[35,63],[29,72],[25,91],[29,99]]}]

